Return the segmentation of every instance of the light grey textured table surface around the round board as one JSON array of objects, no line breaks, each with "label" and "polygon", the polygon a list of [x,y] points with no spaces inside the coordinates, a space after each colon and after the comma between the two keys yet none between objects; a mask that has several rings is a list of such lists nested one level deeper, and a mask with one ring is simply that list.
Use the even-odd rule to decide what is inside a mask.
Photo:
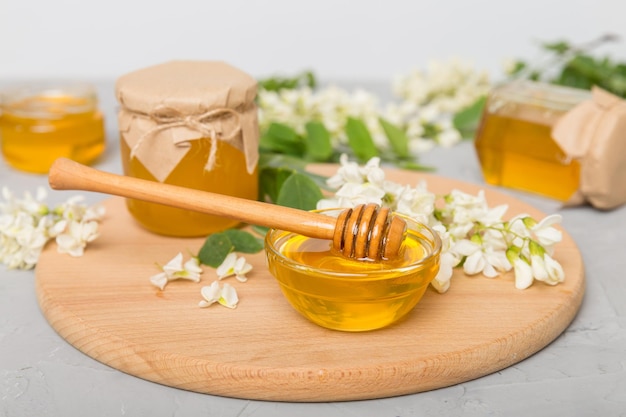
[{"label": "light grey textured table surface around the round board", "polygon": [[[0,83],[1,84],[1,83]],[[97,83],[107,118],[97,168],[121,172],[111,82]],[[484,184],[471,143],[421,158],[439,175]],[[16,192],[45,176],[0,161],[0,186]],[[280,403],[183,391],[124,374],[84,355],[50,327],[33,271],[0,270],[0,416],[626,416],[626,207],[561,208],[511,190],[545,213],[561,212],[583,254],[587,287],[568,329],[530,358],[500,372],[435,391],[355,402]],[[64,201],[75,192],[50,192]],[[105,196],[83,193],[88,202]]]}]

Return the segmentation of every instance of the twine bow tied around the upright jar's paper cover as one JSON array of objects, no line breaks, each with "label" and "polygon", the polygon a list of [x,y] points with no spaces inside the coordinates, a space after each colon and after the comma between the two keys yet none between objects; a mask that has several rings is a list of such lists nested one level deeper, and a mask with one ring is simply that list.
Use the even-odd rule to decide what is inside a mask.
[{"label": "twine bow tied around the upright jar's paper cover", "polygon": [[[182,114],[178,110],[172,108],[158,107],[152,113],[146,114],[144,116],[152,119],[156,123],[156,126],[146,131],[139,137],[139,140],[135,143],[130,151],[131,159],[135,157],[135,154],[148,137],[162,130],[173,129],[176,127],[186,127],[202,134],[201,137],[191,140],[200,140],[203,138],[207,138],[210,141],[209,157],[207,159],[207,163],[204,169],[207,171],[211,171],[215,166],[215,158],[217,154],[216,141],[229,141],[241,132],[241,115],[236,110],[229,108],[213,109],[201,114]],[[235,123],[234,128],[230,132],[228,132],[228,134],[223,134],[223,132],[218,131],[215,128],[215,122],[226,117],[234,117]],[[174,138],[173,142],[174,145],[181,146],[188,144],[191,140],[177,140],[176,138]]]}]

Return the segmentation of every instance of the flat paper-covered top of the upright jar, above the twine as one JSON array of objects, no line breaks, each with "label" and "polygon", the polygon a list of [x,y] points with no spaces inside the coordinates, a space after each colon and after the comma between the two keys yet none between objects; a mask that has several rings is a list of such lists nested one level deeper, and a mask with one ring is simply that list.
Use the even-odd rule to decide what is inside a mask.
[{"label": "flat paper-covered top of the upright jar, above the twine", "polygon": [[120,77],[116,97],[126,109],[150,114],[163,106],[182,114],[235,109],[252,102],[257,82],[219,61],[170,61]]}]

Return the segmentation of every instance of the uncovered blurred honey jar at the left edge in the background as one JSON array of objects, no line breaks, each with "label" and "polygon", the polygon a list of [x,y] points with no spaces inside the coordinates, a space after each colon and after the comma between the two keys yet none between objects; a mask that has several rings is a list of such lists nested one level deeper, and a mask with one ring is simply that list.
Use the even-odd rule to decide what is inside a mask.
[{"label": "uncovered blurred honey jar at the left edge in the background", "polygon": [[55,159],[91,164],[105,149],[104,118],[89,84],[33,84],[0,96],[0,142],[12,167],[47,173]]}]

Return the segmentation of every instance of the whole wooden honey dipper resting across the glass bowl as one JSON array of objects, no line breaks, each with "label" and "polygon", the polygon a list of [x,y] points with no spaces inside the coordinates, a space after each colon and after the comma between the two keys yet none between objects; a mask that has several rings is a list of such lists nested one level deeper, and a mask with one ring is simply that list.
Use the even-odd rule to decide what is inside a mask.
[{"label": "whole wooden honey dipper resting across the glass bowl", "polygon": [[134,198],[185,210],[332,240],[333,248],[353,259],[397,256],[406,222],[377,204],[343,210],[337,218],[244,198],[231,197],[139,178],[116,175],[57,159],[48,175],[55,190],[84,190]]}]

